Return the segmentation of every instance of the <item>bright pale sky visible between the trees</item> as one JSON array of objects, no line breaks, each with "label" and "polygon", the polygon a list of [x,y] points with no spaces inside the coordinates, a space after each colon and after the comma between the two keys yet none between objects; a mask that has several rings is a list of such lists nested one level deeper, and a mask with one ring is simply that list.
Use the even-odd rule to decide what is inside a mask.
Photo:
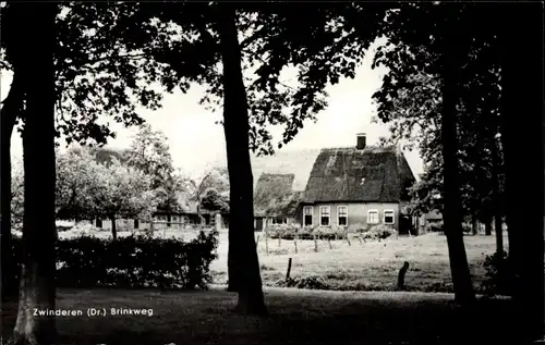
[{"label": "bright pale sky visible between the trees", "polygon": [[[378,144],[380,136],[388,136],[387,124],[372,124],[376,115],[376,106],[372,101],[373,94],[382,86],[384,69],[371,69],[374,49],[370,51],[353,79],[344,78],[335,86],[328,87],[328,107],[316,115],[317,122],[308,121],[296,137],[281,150],[316,149],[326,147],[347,147],[355,145],[355,134],[364,132],[367,145]],[[0,79],[0,98],[8,95],[11,75],[2,74]],[[201,175],[213,165],[226,165],[226,143],[220,120],[220,113],[207,111],[198,104],[204,89],[192,87],[186,94],[175,91],[166,95],[162,108],[150,111],[138,109],[137,112],[154,130],[165,133],[174,165],[190,175]],[[108,146],[128,147],[135,135],[136,128],[124,128],[112,125],[117,138]],[[282,130],[271,127],[275,143],[281,137]],[[12,157],[22,157],[22,140],[19,133],[12,137]],[[423,172],[423,162],[416,151],[404,152],[409,165],[417,176]]]}]

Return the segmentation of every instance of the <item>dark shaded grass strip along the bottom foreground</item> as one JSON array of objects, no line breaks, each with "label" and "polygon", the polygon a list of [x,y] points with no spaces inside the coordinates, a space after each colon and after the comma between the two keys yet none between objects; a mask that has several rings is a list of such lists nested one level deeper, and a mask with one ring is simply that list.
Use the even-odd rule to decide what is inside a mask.
[{"label": "dark shaded grass strip along the bottom foreground", "polygon": [[[266,288],[270,315],[242,317],[235,295],[208,292],[60,289],[59,344],[518,344],[509,300],[459,307],[446,294]],[[153,309],[153,316],[89,318],[87,308]],[[3,336],[14,305],[4,306]]]}]

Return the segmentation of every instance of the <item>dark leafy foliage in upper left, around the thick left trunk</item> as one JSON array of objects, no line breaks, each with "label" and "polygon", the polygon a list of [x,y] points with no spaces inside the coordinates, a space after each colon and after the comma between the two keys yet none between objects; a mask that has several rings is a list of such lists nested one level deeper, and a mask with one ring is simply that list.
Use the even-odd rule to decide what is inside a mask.
[{"label": "dark leafy foliage in upper left, around the thick left trunk", "polygon": [[[65,2],[59,4],[57,47],[57,135],[66,143],[106,144],[116,134],[99,116],[126,126],[143,123],[136,107],[158,109],[161,79],[168,73],[146,51],[128,45],[126,37],[157,41],[160,27],[137,17],[137,3]],[[2,9],[2,67],[13,69],[25,53],[17,33],[24,5]],[[15,73],[17,73],[15,71]],[[23,119],[24,120],[24,116]],[[22,131],[23,123],[20,123]]]}]

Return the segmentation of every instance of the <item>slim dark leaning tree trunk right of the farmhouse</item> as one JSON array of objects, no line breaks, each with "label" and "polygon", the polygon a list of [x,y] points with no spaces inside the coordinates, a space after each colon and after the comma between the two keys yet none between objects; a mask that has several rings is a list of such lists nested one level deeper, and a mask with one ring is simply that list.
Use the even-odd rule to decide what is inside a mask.
[{"label": "slim dark leaning tree trunk right of the farmhouse", "polygon": [[475,299],[475,293],[471,282],[468,266],[468,256],[463,243],[460,184],[458,173],[458,137],[456,106],[458,103],[457,81],[457,40],[447,40],[443,51],[443,111],[441,111],[441,144],[444,159],[444,231],[447,236],[447,245],[450,259],[450,271],[452,273],[452,285],[455,299],[458,303],[471,303]]}]

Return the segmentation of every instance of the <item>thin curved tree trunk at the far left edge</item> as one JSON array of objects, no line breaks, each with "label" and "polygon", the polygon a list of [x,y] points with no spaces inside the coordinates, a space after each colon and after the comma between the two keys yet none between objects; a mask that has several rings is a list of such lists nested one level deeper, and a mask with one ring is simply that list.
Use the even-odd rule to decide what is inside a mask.
[{"label": "thin curved tree trunk at the far left edge", "polygon": [[0,118],[0,193],[1,193],[1,286],[2,300],[16,297],[17,282],[15,281],[16,266],[12,256],[11,242],[11,137],[15,126],[16,118],[23,108],[23,83],[21,72],[14,69],[13,82],[10,93],[3,101]]}]

